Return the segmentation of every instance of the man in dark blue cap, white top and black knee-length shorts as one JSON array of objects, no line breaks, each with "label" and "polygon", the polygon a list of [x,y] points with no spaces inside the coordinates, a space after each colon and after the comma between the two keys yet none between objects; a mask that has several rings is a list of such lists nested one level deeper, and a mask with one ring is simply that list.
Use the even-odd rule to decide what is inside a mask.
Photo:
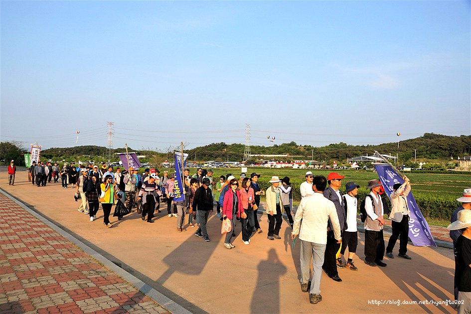
[{"label": "man in dark blue cap, white top and black knee-length shorts", "polygon": [[[358,230],[356,228],[356,211],[358,208],[358,200],[356,195],[358,194],[358,188],[360,186],[355,182],[351,181],[345,184],[345,193],[343,195],[343,206],[345,208],[345,219],[347,221],[347,229],[342,234],[342,247],[340,249],[340,255],[345,254],[345,249],[348,246],[348,260],[345,267],[353,271],[358,268],[353,265],[353,257],[356,253],[356,247],[358,246]],[[341,256],[339,258],[341,258]]]}]

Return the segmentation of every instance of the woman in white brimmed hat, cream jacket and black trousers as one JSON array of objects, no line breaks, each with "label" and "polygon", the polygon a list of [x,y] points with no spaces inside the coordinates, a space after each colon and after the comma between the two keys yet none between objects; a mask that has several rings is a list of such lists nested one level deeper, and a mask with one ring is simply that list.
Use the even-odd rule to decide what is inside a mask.
[{"label": "woman in white brimmed hat, cream jacket and black trousers", "polygon": [[[278,176],[272,176],[272,179],[268,181],[272,183],[267,191],[267,214],[268,214],[268,235],[267,239],[281,239],[278,235],[281,229],[281,223],[283,219],[281,217],[281,208],[283,208],[283,201],[281,200],[281,190],[278,188],[281,180]],[[275,224],[276,221],[276,224]]]}]

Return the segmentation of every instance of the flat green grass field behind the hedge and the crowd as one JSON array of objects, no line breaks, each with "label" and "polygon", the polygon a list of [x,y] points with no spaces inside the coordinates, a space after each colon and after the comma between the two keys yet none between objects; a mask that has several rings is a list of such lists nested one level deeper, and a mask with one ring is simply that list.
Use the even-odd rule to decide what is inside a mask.
[{"label": "flat green grass field behind the hedge and the crowd", "polygon": [[[214,177],[220,175],[226,175],[227,173],[234,174],[237,178],[240,175],[240,168],[215,168]],[[250,173],[257,172],[262,176],[278,175],[281,178],[288,176],[290,178],[299,178],[304,180],[306,171],[310,169],[283,169],[283,168],[248,168],[247,176]],[[331,172],[330,170],[311,170],[314,175],[327,175]],[[371,170],[334,170],[340,175],[344,175],[343,185],[349,181],[355,181],[356,184],[361,187],[366,187],[369,180],[377,179],[378,175],[376,172]],[[194,174],[194,172],[190,172]],[[463,194],[465,188],[471,187],[471,172],[470,174],[435,174],[435,173],[410,173],[407,174],[412,184],[412,192],[430,193],[430,194],[448,194],[448,195],[459,195]]]}]

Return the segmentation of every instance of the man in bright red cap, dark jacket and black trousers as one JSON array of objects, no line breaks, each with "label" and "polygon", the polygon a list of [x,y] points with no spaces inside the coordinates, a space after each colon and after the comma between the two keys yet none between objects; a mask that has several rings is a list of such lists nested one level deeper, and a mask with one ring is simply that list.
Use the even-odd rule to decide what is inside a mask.
[{"label": "man in bright red cap, dark jacket and black trousers", "polygon": [[[338,223],[340,224],[340,233],[342,236],[343,231],[347,228],[342,192],[340,192],[338,189],[340,186],[342,186],[343,178],[344,176],[339,175],[337,172],[330,172],[327,176],[327,183],[329,186],[323,191],[324,197],[332,201],[335,205]],[[335,240],[332,222],[329,219],[327,223],[327,244],[325,246],[324,264],[322,265],[322,269],[327,273],[327,276],[337,282],[342,281],[340,277],[338,277],[337,267],[345,267],[341,258],[338,260],[335,259],[339,248],[340,244],[337,243],[337,240]]]}]

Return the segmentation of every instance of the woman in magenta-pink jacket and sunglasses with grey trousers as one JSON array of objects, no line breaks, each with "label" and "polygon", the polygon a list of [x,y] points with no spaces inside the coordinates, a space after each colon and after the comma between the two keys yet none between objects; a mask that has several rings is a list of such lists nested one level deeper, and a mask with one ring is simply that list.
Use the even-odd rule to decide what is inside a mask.
[{"label": "woman in magenta-pink jacket and sunglasses with grey trousers", "polygon": [[231,243],[232,234],[234,233],[234,218],[242,217],[247,218],[244,208],[242,207],[242,198],[240,196],[240,191],[237,189],[239,182],[236,179],[229,181],[229,190],[224,194],[224,202],[222,206],[222,219],[230,219],[232,224],[232,229],[230,232],[226,233],[226,239],[224,241],[224,246],[226,249],[235,248]]}]

